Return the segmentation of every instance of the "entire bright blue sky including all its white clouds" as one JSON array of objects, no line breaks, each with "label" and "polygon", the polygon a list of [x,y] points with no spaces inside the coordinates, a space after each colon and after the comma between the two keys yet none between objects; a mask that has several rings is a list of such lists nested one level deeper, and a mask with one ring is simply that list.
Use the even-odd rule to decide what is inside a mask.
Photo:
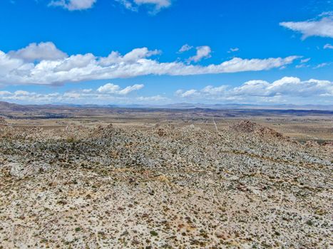
[{"label": "entire bright blue sky including all its white clouds", "polygon": [[333,104],[333,1],[2,0],[0,100]]}]

